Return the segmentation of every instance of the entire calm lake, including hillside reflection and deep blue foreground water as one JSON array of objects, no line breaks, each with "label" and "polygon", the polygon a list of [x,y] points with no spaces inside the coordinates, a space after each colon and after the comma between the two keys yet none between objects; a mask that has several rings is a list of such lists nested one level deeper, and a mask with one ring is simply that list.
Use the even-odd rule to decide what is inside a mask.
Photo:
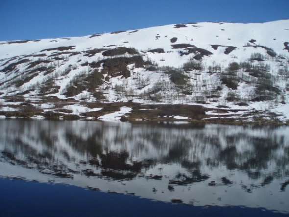
[{"label": "entire calm lake, including hillside reflection and deep blue foreground water", "polygon": [[286,216],[289,127],[0,120],[1,216]]}]

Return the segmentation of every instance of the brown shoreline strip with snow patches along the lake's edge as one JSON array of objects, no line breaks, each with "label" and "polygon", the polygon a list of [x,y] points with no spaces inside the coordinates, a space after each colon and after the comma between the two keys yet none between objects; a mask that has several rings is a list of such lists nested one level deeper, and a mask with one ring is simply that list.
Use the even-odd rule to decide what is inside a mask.
[{"label": "brown shoreline strip with snow patches along the lake's edge", "polygon": [[[67,103],[71,105],[72,103]],[[230,124],[230,125],[289,125],[289,120],[280,121],[275,113],[264,111],[206,108],[202,105],[184,104],[140,104],[134,102],[87,103],[95,111],[73,113],[68,109],[51,110],[31,107],[19,107],[18,111],[0,110],[0,118],[42,118],[48,120],[120,120],[123,122],[191,122],[200,124]],[[26,105],[29,106],[29,105]],[[125,109],[124,112],[121,112]],[[106,117],[106,118],[102,118]]]}]

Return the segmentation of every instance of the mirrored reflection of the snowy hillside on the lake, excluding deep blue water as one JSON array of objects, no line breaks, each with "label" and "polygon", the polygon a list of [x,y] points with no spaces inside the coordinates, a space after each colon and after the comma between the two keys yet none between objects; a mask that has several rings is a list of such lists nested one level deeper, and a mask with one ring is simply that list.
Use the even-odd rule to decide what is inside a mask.
[{"label": "mirrored reflection of the snowy hillside on the lake, excluding deep blue water", "polygon": [[289,211],[289,127],[0,120],[0,175]]}]

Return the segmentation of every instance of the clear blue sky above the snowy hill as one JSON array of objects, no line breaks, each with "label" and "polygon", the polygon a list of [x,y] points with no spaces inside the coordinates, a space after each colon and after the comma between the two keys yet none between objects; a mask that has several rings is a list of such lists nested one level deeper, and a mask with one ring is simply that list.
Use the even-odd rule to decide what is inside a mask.
[{"label": "clear blue sky above the snowy hill", "polygon": [[85,36],[185,22],[289,18],[289,0],[0,0],[0,41]]}]

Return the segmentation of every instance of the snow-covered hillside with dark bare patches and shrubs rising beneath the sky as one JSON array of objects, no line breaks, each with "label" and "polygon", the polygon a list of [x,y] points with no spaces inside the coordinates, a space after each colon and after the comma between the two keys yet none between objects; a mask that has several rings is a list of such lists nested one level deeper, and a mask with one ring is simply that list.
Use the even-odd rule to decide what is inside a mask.
[{"label": "snow-covered hillside with dark bare patches and shrubs rising beneath the sky", "polygon": [[[3,41],[0,111],[6,115],[30,106],[30,111],[93,116],[101,110],[95,102],[172,103],[203,106],[203,120],[286,122],[288,42],[289,20],[186,23]],[[114,118],[130,109],[115,111],[101,115]]]}]

